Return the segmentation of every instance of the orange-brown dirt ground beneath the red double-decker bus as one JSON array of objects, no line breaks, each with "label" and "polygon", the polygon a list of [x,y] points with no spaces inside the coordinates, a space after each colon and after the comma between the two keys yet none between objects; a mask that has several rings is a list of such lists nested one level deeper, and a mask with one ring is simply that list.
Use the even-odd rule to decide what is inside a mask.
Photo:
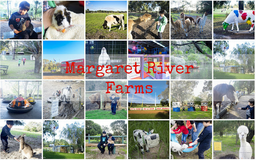
[{"label": "orange-brown dirt ground beneath the red double-decker bus", "polygon": [[51,72],[43,72],[43,79],[54,80],[54,79],[84,79],[84,76],[78,76],[77,74],[69,73],[69,74],[60,74],[60,73],[51,73]]}]

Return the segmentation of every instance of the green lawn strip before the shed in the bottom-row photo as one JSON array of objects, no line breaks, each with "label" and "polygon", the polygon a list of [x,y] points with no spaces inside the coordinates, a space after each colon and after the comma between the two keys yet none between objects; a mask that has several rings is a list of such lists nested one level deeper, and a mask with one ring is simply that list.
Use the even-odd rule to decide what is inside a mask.
[{"label": "green lawn strip before the shed in the bottom-row photo", "polygon": [[84,154],[43,152],[44,159],[84,159]]}]

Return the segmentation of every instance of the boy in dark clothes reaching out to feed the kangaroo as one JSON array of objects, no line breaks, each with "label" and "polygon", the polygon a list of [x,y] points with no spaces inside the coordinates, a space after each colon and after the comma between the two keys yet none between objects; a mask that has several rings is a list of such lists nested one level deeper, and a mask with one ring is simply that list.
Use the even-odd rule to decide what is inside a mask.
[{"label": "boy in dark clothes reaching out to feed the kangaroo", "polygon": [[[2,132],[1,132],[1,140],[2,140],[2,144],[3,144],[3,147],[4,147],[4,153],[9,153],[7,152],[7,148],[8,147],[8,136],[10,138],[13,138],[14,140],[18,141],[18,139],[16,137],[14,137],[11,133],[10,133],[10,130],[13,126],[13,120],[6,120],[6,125],[2,128]],[[20,141],[18,141],[20,142]]]}]

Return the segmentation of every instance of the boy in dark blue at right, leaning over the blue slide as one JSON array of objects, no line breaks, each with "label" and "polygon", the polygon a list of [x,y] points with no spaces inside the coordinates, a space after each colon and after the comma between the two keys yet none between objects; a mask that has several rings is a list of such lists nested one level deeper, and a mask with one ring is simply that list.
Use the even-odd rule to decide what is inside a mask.
[{"label": "boy in dark blue at right, leaning over the blue slide", "polygon": [[195,144],[199,144],[198,146],[198,159],[204,159],[204,151],[211,148],[212,142],[212,121],[211,120],[203,120],[204,130],[195,140]]}]

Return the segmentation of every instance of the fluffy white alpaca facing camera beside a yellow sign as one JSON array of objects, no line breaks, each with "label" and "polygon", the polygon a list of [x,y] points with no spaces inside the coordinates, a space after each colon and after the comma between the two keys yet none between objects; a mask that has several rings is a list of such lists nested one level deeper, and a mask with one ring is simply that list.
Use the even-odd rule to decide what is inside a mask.
[{"label": "fluffy white alpaca facing camera beside a yellow sign", "polygon": [[252,147],[250,143],[246,142],[246,136],[249,133],[248,128],[246,126],[239,126],[237,133],[240,138],[239,159],[251,159]]}]

